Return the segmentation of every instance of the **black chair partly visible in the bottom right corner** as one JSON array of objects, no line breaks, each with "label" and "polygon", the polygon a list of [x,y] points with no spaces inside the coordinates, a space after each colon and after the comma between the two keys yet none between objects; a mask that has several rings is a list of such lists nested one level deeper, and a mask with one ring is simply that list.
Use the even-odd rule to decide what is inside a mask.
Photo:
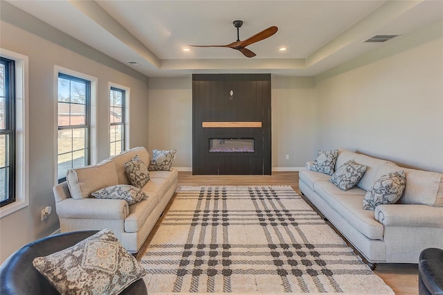
[{"label": "black chair partly visible in the bottom right corner", "polygon": [[443,294],[443,250],[424,249],[418,262],[418,291],[420,295]]}]

